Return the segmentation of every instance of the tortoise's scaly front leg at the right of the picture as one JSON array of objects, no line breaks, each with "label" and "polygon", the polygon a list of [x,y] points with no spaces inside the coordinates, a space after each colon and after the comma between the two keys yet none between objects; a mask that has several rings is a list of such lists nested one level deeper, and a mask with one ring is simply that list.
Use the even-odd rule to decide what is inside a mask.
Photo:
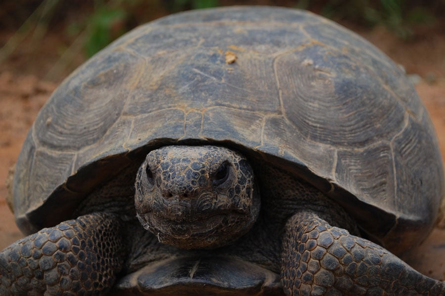
[{"label": "tortoise's scaly front leg at the right of the picture", "polygon": [[444,282],[314,212],[289,219],[283,244],[281,281],[287,295],[445,295]]}]

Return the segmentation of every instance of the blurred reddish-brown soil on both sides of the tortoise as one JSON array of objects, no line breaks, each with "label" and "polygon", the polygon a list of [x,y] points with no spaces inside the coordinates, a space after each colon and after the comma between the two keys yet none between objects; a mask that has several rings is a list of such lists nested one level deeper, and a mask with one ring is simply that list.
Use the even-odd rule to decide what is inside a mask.
[{"label": "blurred reddish-brown soil on both sides of the tortoise", "polygon": [[[420,75],[416,89],[432,116],[444,156],[444,33],[440,30],[421,32],[420,37],[407,43],[383,28],[358,31],[403,65],[408,74]],[[0,47],[13,33],[0,30]],[[38,110],[60,80],[83,60],[82,54],[76,51],[69,56],[69,64],[60,66],[61,58],[56,52],[67,46],[64,32],[49,31],[41,38],[37,44],[35,40],[34,43],[23,41],[5,59],[0,54],[0,249],[22,237],[4,198],[8,168],[14,164]],[[445,280],[445,220],[421,246],[412,249],[403,259],[420,272]]]}]

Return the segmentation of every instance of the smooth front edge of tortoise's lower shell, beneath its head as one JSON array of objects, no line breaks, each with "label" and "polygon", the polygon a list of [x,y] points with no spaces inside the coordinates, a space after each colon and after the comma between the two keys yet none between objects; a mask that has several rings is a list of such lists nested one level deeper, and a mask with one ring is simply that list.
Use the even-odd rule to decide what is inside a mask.
[{"label": "smooth front edge of tortoise's lower shell, beneath its head", "polygon": [[280,275],[231,256],[189,256],[156,261],[116,284],[117,291],[156,295],[282,295]]}]

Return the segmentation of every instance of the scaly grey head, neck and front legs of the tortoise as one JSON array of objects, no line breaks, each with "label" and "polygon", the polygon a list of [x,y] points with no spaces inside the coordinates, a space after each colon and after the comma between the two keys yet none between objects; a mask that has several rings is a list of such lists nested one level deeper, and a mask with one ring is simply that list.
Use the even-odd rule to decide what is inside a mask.
[{"label": "scaly grey head, neck and front legs of the tortoise", "polygon": [[128,218],[130,203],[111,206],[110,197],[119,200],[125,190],[99,190],[78,218],[0,253],[0,294],[103,294],[135,261],[188,253],[228,254],[281,272],[287,295],[444,294],[444,283],[360,238],[354,220],[315,188],[252,166],[221,147],[151,151],[137,171],[131,203],[153,235]]}]

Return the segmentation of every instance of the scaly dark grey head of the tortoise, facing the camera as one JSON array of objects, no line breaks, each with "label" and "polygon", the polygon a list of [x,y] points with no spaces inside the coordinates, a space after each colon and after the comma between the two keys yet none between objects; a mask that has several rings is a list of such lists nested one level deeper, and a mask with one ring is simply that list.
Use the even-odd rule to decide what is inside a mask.
[{"label": "scaly dark grey head of the tortoise, facing the camera", "polygon": [[216,146],[167,146],[148,153],[136,177],[135,207],[161,243],[214,248],[245,234],[260,211],[247,159]]}]

